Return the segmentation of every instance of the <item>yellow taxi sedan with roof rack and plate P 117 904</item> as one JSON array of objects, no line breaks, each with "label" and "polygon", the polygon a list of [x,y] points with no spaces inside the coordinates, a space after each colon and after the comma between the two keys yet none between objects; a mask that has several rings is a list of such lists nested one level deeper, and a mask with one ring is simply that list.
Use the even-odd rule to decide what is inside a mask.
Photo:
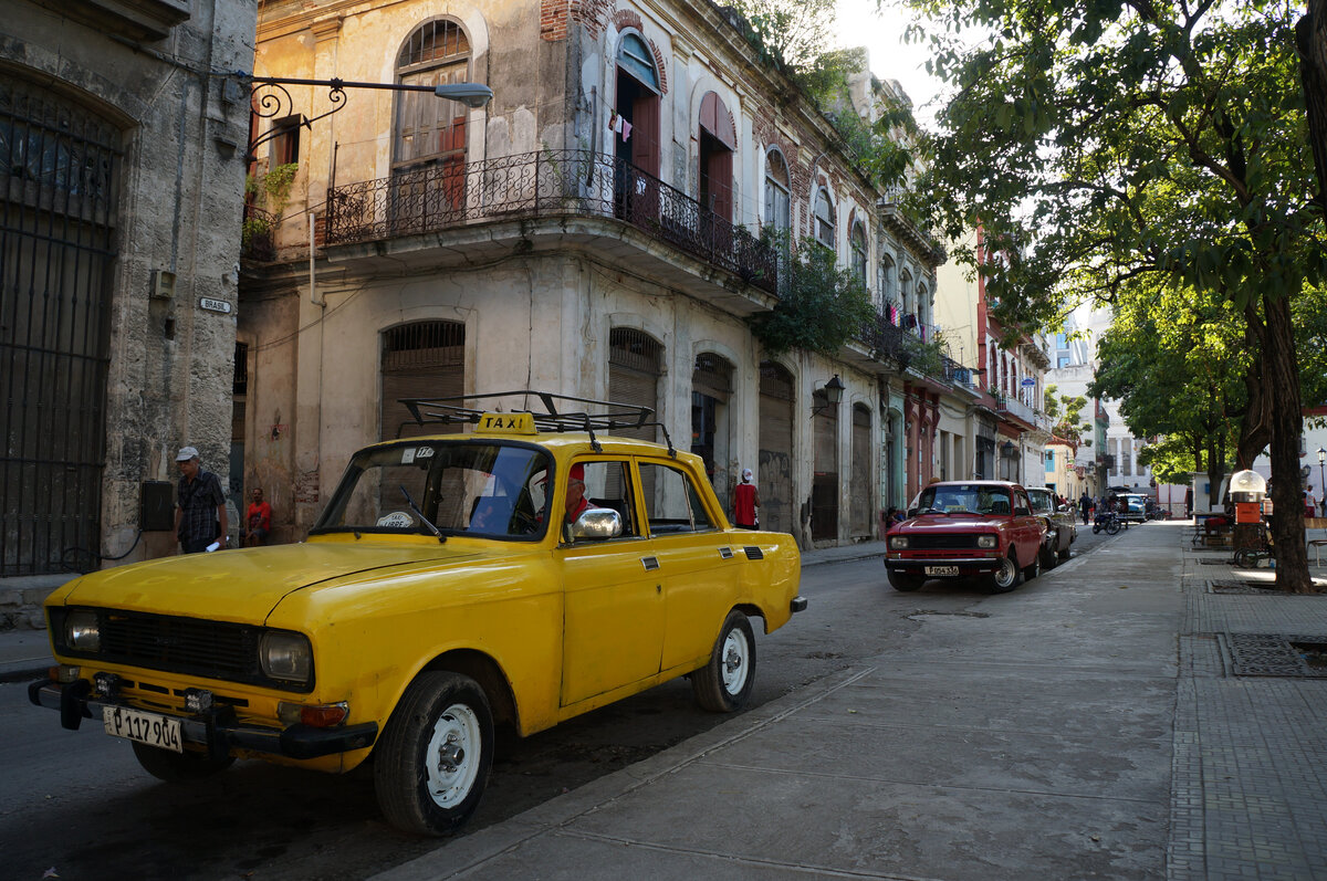
[{"label": "yellow taxi sedan with roof rack and plate P 117 904", "polygon": [[58,666],[33,703],[100,722],[173,781],[236,758],[372,759],[382,813],[422,835],[474,813],[495,724],[528,735],[679,675],[702,707],[740,707],[750,618],[768,633],[805,608],[791,536],[730,527],[671,442],[604,434],[648,409],[482,398],[406,402],[471,430],[357,452],[307,543],[57,589]]}]

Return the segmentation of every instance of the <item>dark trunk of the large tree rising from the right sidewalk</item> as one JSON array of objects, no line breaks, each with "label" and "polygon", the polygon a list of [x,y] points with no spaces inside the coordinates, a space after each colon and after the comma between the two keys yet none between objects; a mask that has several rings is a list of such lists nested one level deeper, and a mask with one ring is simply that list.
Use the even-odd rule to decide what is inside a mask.
[{"label": "dark trunk of the large tree rising from the right sidewalk", "polygon": [[1277,544],[1277,589],[1312,593],[1304,547],[1304,504],[1299,476],[1299,369],[1290,299],[1263,297],[1266,345],[1262,350],[1263,391],[1271,410],[1271,536]]}]

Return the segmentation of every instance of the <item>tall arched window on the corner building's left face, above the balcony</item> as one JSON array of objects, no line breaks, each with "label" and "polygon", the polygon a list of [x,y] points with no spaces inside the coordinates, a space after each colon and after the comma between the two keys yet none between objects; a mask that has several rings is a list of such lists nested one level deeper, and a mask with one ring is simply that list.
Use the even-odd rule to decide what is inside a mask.
[{"label": "tall arched window on the corner building's left face, above the balcony", "polygon": [[[397,82],[439,86],[468,81],[470,38],[455,21],[426,21],[401,46]],[[427,92],[398,93],[393,167],[463,167],[467,114],[459,101],[441,100]]]}]

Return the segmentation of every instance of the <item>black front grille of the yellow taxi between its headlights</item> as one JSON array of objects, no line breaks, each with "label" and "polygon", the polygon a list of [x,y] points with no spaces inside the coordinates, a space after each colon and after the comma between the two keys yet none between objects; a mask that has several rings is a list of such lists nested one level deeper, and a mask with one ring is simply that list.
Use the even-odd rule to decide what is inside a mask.
[{"label": "black front grille of the yellow taxi between its headlights", "polygon": [[163,673],[263,685],[283,691],[307,690],[305,686],[263,675],[259,666],[263,628],[118,609],[93,612],[97,613],[101,630],[101,650],[78,651],[64,644],[61,624],[65,610],[52,609],[52,633],[56,634],[61,654]]}]

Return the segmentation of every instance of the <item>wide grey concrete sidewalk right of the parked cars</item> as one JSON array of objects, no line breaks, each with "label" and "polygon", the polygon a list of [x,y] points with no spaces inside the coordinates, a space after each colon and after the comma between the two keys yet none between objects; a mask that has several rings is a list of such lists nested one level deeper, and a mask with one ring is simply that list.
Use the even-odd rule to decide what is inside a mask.
[{"label": "wide grey concrete sidewalk right of the parked cars", "polygon": [[1131,529],[378,878],[1327,880],[1327,678],[1230,647],[1327,597],[1217,557]]}]

